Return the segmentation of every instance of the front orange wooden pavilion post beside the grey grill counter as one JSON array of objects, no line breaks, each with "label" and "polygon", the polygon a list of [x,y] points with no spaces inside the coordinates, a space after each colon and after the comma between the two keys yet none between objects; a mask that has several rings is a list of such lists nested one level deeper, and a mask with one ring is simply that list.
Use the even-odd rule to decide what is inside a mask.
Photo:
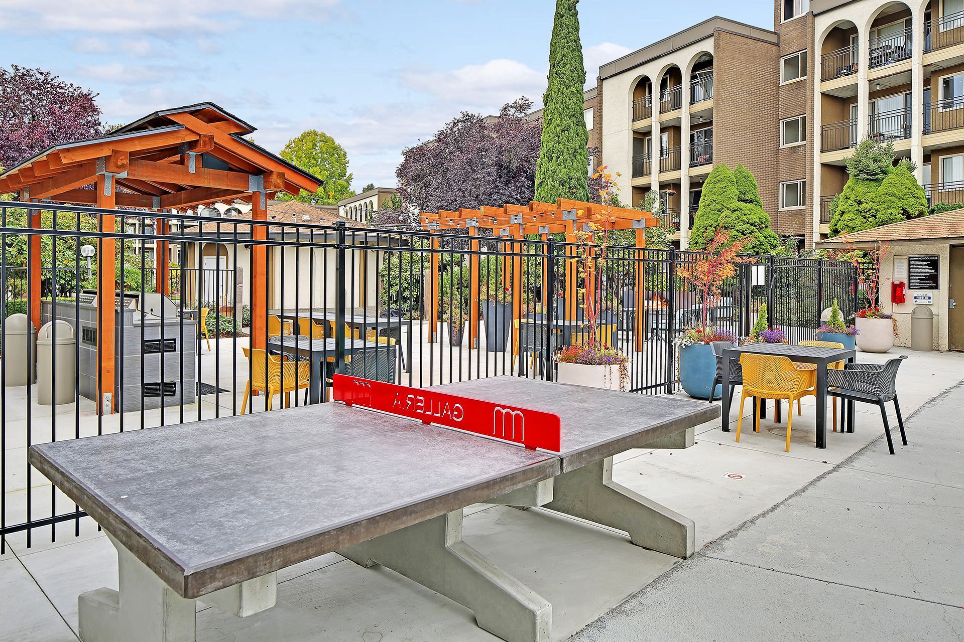
[{"label": "front orange wooden pavilion post beside the grey grill counter", "polygon": [[[97,207],[113,210],[117,204],[114,177],[97,175]],[[101,214],[101,232],[116,232],[113,214]],[[101,239],[97,250],[97,414],[117,411],[115,388],[115,325],[117,324],[117,242]]]}]

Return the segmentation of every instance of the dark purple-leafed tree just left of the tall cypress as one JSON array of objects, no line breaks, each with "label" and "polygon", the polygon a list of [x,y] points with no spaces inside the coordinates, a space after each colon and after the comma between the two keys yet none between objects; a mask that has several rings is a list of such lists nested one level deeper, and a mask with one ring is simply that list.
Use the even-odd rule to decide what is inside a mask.
[{"label": "dark purple-leafed tree just left of the tall cypress", "polygon": [[542,128],[525,122],[532,101],[504,105],[486,122],[463,112],[431,141],[408,147],[395,171],[402,200],[422,212],[532,200]]}]

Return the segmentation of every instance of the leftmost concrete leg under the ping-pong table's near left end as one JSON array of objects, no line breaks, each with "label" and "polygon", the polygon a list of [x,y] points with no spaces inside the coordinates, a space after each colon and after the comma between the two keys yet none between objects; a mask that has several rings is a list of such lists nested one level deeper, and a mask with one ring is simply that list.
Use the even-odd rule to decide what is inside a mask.
[{"label": "leftmost concrete leg under the ping-pong table's near left end", "polygon": [[194,642],[195,601],[185,600],[108,534],[118,550],[120,591],[98,588],[79,600],[83,642]]}]

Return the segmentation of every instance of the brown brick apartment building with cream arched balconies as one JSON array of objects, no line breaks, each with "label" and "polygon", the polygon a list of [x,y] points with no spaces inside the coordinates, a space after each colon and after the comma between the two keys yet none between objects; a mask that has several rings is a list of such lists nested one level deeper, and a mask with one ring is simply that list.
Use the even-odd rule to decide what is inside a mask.
[{"label": "brown brick apartment building with cream arched balconies", "polygon": [[600,67],[624,201],[658,191],[685,247],[710,169],[742,163],[777,234],[812,246],[867,137],[913,159],[931,201],[964,200],[964,0],[775,0],[773,25],[717,16]]}]

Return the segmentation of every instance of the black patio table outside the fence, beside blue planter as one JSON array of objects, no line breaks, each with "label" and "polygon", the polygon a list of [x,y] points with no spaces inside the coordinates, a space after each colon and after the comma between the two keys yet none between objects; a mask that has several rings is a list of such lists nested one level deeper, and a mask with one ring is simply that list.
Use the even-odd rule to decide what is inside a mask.
[{"label": "black patio table outside the fence, beside blue planter", "polygon": [[[827,368],[838,361],[853,361],[856,350],[841,347],[788,346],[787,344],[750,344],[723,348],[723,425],[730,432],[730,359],[739,360],[744,352],[788,357],[795,363],[817,366],[817,448],[827,448]],[[788,412],[792,412],[790,408]],[[853,406],[847,404],[847,424],[853,421]]]}]

